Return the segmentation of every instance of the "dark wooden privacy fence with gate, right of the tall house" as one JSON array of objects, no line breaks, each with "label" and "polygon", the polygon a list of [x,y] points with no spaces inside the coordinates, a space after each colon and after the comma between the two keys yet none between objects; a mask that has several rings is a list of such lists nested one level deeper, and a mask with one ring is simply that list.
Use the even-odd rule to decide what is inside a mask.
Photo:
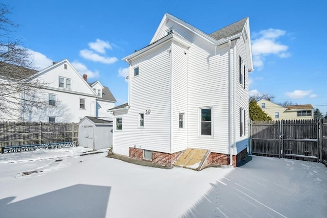
[{"label": "dark wooden privacy fence with gate, right of the tall house", "polygon": [[311,119],[252,121],[250,152],[254,155],[322,162],[327,158],[325,121],[326,119],[321,119],[320,122]]}]

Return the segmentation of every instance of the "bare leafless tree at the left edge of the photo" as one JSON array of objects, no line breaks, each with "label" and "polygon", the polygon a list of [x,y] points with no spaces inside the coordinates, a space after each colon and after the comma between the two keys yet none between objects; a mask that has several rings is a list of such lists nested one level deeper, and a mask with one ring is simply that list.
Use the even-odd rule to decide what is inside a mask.
[{"label": "bare leafless tree at the left edge of the photo", "polygon": [[10,10],[0,3],[0,120],[21,120],[25,108],[40,108],[44,99],[38,94],[46,84],[28,79],[37,71],[31,66],[28,50],[13,39],[12,32],[18,27],[8,19]]}]

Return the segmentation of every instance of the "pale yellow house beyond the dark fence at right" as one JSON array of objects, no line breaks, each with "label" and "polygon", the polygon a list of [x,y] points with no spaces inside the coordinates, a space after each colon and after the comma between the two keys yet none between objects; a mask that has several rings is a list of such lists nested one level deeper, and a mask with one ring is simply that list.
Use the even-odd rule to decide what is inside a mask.
[{"label": "pale yellow house beyond the dark fence at right", "polygon": [[257,104],[273,120],[313,119],[312,105],[280,106],[265,99],[260,100]]}]

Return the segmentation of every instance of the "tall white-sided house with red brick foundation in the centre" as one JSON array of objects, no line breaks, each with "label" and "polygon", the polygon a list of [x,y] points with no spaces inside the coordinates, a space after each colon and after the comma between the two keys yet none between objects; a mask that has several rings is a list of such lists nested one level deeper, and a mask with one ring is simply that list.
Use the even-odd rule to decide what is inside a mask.
[{"label": "tall white-sided house with red brick foundation in the centre", "polygon": [[114,153],[161,165],[188,148],[209,150],[209,163],[246,154],[248,17],[208,35],[166,13],[150,44],[123,60],[128,103],[108,110]]}]

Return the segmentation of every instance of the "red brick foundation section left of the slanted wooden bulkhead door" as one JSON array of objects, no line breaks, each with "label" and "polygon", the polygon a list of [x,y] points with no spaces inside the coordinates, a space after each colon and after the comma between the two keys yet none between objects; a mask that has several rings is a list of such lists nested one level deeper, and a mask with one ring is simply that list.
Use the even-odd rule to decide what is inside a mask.
[{"label": "red brick foundation section left of the slanted wooden bulkhead door", "polygon": [[175,152],[173,154],[152,151],[152,160],[147,160],[143,158],[144,157],[143,151],[144,151],[143,149],[129,148],[129,157],[156,163],[161,166],[172,166],[173,162],[182,153],[181,151]]}]

